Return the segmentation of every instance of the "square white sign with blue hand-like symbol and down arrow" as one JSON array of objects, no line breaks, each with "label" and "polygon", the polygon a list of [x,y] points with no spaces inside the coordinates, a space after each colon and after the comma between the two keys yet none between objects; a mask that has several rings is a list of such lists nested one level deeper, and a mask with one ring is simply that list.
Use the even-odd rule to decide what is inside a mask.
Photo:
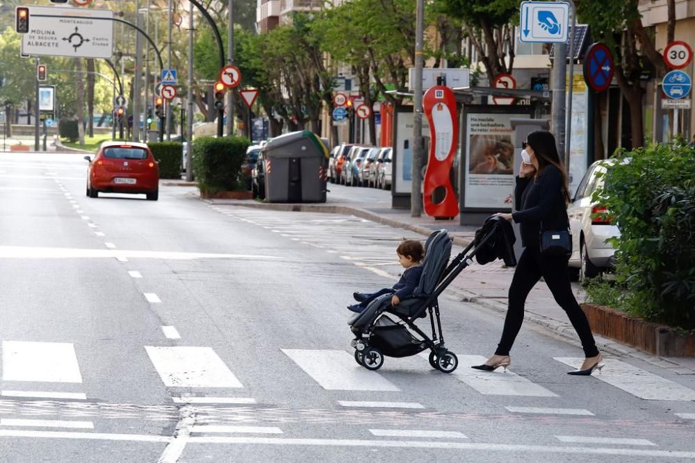
[{"label": "square white sign with blue hand-like symbol and down arrow", "polygon": [[564,43],[569,36],[569,3],[523,1],[519,17],[519,41]]}]

